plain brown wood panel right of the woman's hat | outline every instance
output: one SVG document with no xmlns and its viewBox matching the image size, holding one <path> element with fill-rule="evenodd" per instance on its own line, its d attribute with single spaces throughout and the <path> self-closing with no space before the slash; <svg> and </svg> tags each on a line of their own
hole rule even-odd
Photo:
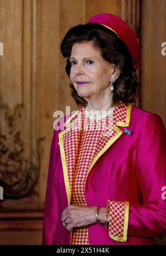
<svg viewBox="0 0 166 256">
<path fill-rule="evenodd" d="M 166 127 L 166 1 L 143 0 L 141 10 L 141 107 L 159 114 Z"/>
</svg>

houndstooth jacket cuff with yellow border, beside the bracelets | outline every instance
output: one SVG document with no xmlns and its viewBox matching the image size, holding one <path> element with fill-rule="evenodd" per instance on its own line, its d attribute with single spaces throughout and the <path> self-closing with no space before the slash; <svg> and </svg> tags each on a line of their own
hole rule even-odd
<svg viewBox="0 0 166 256">
<path fill-rule="evenodd" d="M 108 226 L 110 237 L 117 242 L 127 240 L 129 202 L 107 201 Z"/>
</svg>

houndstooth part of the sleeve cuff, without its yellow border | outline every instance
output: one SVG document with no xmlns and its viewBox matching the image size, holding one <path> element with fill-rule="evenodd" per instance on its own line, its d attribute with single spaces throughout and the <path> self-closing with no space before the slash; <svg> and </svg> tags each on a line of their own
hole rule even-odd
<svg viewBox="0 0 166 256">
<path fill-rule="evenodd" d="M 123 238 L 126 202 L 108 200 L 107 209 L 109 214 L 108 233 L 112 237 Z"/>
</svg>

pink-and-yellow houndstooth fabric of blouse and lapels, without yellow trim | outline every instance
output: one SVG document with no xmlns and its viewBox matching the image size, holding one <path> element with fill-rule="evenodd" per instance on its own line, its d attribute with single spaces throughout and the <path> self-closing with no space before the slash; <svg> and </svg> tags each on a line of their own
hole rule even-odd
<svg viewBox="0 0 166 256">
<path fill-rule="evenodd" d="M 86 207 L 85 183 L 91 162 L 117 132 L 117 121 L 125 122 L 127 104 L 117 106 L 112 117 L 101 121 L 85 118 L 85 107 L 71 119 L 70 131 L 63 135 L 64 151 L 71 191 L 71 204 Z M 78 227 L 72 231 L 71 244 L 88 245 L 89 228 Z"/>
</svg>

